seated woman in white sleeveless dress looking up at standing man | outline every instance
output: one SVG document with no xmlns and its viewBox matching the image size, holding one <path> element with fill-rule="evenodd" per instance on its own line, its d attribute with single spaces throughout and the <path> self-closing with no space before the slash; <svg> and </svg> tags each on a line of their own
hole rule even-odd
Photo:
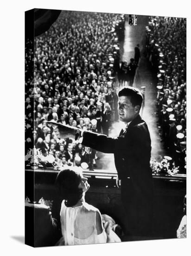
<svg viewBox="0 0 191 256">
<path fill-rule="evenodd" d="M 121 242 L 112 230 L 107 236 L 100 211 L 85 202 L 89 183 L 77 168 L 60 171 L 56 185 L 64 199 L 60 210 L 63 237 L 57 245 Z"/>
</svg>

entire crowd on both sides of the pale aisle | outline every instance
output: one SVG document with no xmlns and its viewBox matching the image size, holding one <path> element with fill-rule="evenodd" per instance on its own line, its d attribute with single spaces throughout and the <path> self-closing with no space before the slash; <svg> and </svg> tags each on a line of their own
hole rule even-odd
<svg viewBox="0 0 191 256">
<path fill-rule="evenodd" d="M 149 19 L 146 56 L 157 76 L 159 133 L 175 166 L 184 172 L 186 20 L 156 16 Z M 26 149 L 34 144 L 44 155 L 51 153 L 59 159 L 64 157 L 63 162 L 74 162 L 76 154 L 81 159 L 88 155 L 86 158 L 90 160 L 85 162 L 89 162 L 89 168 L 96 165 L 96 152 L 75 141 L 60 141 L 45 121 L 108 135 L 111 122 L 118 120 L 115 75 L 119 85 L 125 85 L 127 81 L 132 86 L 140 58 L 137 45 L 134 59 L 129 64 L 122 62 L 120 65 L 119 40 L 124 37 L 124 23 L 125 16 L 120 14 L 63 11 L 51 29 L 36 37 L 34 81 L 32 75 L 27 74 L 27 69 L 33 69 L 32 50 L 26 51 L 25 58 L 28 77 L 25 83 Z M 60 146 L 64 146 L 64 153 Z M 68 148 L 72 152 L 70 158 Z"/>
</svg>

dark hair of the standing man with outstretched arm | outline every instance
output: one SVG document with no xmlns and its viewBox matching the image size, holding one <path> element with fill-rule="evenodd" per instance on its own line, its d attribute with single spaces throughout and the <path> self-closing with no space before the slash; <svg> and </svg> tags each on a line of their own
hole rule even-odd
<svg viewBox="0 0 191 256">
<path fill-rule="evenodd" d="M 141 108 L 143 102 L 143 96 L 139 89 L 127 86 L 126 88 L 122 88 L 118 92 L 118 97 L 127 96 L 130 97 L 131 103 L 133 106 L 139 105 Z"/>
</svg>

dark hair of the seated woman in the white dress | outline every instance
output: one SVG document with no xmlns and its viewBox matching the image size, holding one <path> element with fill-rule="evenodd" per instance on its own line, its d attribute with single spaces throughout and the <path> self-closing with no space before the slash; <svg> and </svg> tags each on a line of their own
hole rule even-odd
<svg viewBox="0 0 191 256">
<path fill-rule="evenodd" d="M 65 169 L 58 173 L 55 183 L 67 207 L 74 206 L 82 198 L 83 190 L 78 188 L 81 181 L 81 175 L 74 170 Z"/>
</svg>

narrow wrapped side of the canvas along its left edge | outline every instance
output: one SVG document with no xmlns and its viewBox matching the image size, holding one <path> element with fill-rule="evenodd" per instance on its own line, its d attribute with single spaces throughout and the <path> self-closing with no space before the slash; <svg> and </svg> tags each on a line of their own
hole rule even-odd
<svg viewBox="0 0 191 256">
<path fill-rule="evenodd" d="M 25 12 L 25 162 L 34 166 L 34 10 Z M 34 208 L 30 200 L 34 197 L 34 173 L 25 172 L 25 244 L 34 246 Z M 29 199 L 30 198 L 30 199 Z"/>
</svg>

